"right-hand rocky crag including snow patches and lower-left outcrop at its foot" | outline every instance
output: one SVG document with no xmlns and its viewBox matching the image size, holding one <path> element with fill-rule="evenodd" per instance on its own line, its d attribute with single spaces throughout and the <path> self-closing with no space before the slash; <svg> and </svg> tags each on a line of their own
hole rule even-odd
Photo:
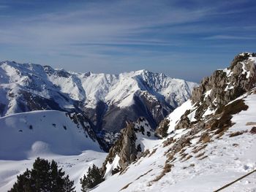
<svg viewBox="0 0 256 192">
<path fill-rule="evenodd" d="M 230 67 L 215 71 L 210 77 L 204 78 L 200 86 L 194 88 L 191 97 L 192 104 L 195 105 L 194 123 L 255 88 L 255 56 L 256 53 L 237 55 Z M 181 116 L 176 129 L 189 127 L 192 122 L 188 115 L 193 111 L 188 110 Z"/>
</svg>

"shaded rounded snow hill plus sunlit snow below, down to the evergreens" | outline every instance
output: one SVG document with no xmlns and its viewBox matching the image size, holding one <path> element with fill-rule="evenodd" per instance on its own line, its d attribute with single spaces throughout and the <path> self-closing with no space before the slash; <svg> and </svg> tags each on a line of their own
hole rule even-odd
<svg viewBox="0 0 256 192">
<path fill-rule="evenodd" d="M 30 169 L 38 156 L 57 161 L 80 191 L 79 178 L 92 164 L 100 166 L 106 155 L 65 112 L 23 112 L 0 118 L 0 191 L 9 190 L 16 175 Z"/>
</svg>

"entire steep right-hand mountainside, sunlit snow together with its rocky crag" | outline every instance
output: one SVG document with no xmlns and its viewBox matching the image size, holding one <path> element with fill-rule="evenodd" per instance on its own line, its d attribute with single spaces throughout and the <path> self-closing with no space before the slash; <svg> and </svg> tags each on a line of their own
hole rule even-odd
<svg viewBox="0 0 256 192">
<path fill-rule="evenodd" d="M 192 99 L 160 123 L 156 134 L 165 139 L 155 140 L 93 191 L 215 191 L 255 170 L 255 64 L 255 53 L 241 53 L 230 67 L 206 77 Z M 110 149 L 117 154 L 111 155 L 114 168 L 125 158 L 118 146 L 129 145 L 116 142 Z M 255 181 L 250 174 L 226 190 L 255 191 Z"/>
</svg>

